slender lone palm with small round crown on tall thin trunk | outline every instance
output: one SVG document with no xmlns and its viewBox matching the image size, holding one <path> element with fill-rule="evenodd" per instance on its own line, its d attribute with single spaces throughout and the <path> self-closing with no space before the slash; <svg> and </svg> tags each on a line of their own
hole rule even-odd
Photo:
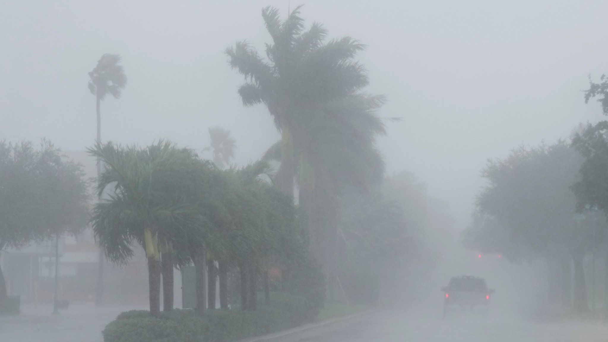
<svg viewBox="0 0 608 342">
<path fill-rule="evenodd" d="M 97 99 L 97 143 L 102 141 L 102 114 L 100 112 L 100 104 L 106 98 L 106 95 L 111 94 L 114 99 L 119 99 L 122 89 L 126 85 L 126 75 L 122 65 L 119 65 L 120 55 L 104 54 L 97 61 L 97 66 L 89 72 L 89 91 L 95 95 Z M 102 164 L 100 159 L 97 159 L 97 177 L 102 173 Z M 97 273 L 97 290 L 95 291 L 95 304 L 102 304 L 103 299 L 103 251 L 99 251 L 98 273 Z"/>
</svg>

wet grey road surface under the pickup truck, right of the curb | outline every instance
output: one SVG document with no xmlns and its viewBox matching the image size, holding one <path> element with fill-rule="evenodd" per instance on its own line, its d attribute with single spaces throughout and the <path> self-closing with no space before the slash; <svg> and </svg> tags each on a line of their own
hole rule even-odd
<svg viewBox="0 0 608 342">
<path fill-rule="evenodd" d="M 295 333 L 284 342 L 605 342 L 608 327 L 589 321 L 531 322 L 517 317 L 376 311 Z"/>
</svg>

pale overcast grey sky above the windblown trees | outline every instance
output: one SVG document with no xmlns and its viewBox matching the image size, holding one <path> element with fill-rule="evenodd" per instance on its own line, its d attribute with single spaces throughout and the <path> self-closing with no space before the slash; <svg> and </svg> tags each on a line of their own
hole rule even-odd
<svg viewBox="0 0 608 342">
<path fill-rule="evenodd" d="M 390 172 L 410 170 L 449 201 L 462 228 L 487 158 L 567 137 L 601 119 L 587 75 L 608 72 L 608 1 L 292 1 L 307 24 L 368 45 L 370 92 L 385 94 L 381 138 Z M 224 49 L 269 41 L 260 10 L 288 1 L 0 0 L 0 139 L 50 138 L 83 150 L 95 134 L 87 72 L 106 52 L 128 76 L 102 103 L 102 138 L 168 138 L 203 148 L 207 128 L 257 159 L 278 134 L 265 108 L 243 108 Z"/>
</svg>

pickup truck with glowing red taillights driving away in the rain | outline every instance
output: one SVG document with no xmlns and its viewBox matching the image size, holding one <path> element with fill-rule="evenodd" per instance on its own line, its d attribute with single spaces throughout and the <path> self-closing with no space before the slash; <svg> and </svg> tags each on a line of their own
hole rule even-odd
<svg viewBox="0 0 608 342">
<path fill-rule="evenodd" d="M 487 308 L 490 297 L 494 293 L 483 278 L 472 276 L 453 277 L 446 287 L 441 288 L 441 291 L 444 296 L 443 316 L 451 305 L 461 309 L 473 309 L 478 306 Z"/>
</svg>

